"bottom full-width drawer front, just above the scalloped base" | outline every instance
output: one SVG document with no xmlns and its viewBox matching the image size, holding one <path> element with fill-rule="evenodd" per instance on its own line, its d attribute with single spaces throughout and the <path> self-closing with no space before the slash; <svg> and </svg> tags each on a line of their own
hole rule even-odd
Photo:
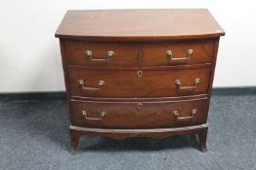
<svg viewBox="0 0 256 170">
<path fill-rule="evenodd" d="M 208 99 L 177 102 L 71 101 L 71 124 L 85 127 L 153 128 L 205 123 Z"/>
</svg>

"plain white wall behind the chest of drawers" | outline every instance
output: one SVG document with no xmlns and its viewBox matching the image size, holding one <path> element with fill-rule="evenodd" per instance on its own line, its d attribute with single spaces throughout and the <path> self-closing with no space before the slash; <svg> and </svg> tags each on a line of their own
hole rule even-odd
<svg viewBox="0 0 256 170">
<path fill-rule="evenodd" d="M 254 1 L 8 0 L 0 1 L 0 92 L 64 90 L 59 41 L 66 10 L 207 8 L 226 31 L 214 86 L 256 85 Z"/>
</svg>

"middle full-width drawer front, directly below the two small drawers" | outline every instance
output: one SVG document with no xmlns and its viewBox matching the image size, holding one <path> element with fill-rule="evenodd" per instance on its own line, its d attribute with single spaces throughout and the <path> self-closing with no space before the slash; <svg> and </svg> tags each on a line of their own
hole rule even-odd
<svg viewBox="0 0 256 170">
<path fill-rule="evenodd" d="M 110 71 L 68 67 L 71 96 L 175 97 L 208 92 L 210 68 Z"/>
</svg>

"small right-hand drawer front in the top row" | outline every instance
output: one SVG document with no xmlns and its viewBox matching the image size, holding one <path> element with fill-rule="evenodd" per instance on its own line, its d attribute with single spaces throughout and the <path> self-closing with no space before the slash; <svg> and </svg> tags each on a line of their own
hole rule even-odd
<svg viewBox="0 0 256 170">
<path fill-rule="evenodd" d="M 143 46 L 143 66 L 211 63 L 214 41 L 147 44 Z"/>
</svg>

